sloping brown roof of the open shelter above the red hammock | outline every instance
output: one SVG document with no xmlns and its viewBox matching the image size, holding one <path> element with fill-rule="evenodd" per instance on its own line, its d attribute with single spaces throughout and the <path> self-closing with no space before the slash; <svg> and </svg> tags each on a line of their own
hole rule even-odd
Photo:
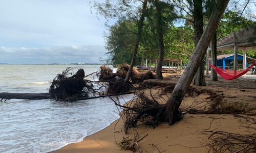
<svg viewBox="0 0 256 153">
<path fill-rule="evenodd" d="M 243 28 L 237 32 L 231 33 L 217 41 L 218 50 L 232 50 L 234 45 L 238 46 L 239 50 L 255 49 L 256 29 Z"/>
</svg>

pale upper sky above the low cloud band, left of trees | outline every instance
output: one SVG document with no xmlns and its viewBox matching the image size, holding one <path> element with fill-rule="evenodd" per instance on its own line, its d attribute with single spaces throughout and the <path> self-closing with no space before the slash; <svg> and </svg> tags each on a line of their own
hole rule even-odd
<svg viewBox="0 0 256 153">
<path fill-rule="evenodd" d="M 0 46 L 103 45 L 104 23 L 89 1 L 1 0 Z"/>
</svg>

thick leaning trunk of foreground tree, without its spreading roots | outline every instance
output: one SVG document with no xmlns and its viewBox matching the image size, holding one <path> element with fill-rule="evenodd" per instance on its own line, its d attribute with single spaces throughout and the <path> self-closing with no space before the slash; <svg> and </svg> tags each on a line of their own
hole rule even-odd
<svg viewBox="0 0 256 153">
<path fill-rule="evenodd" d="M 174 123 L 177 112 L 179 112 L 179 107 L 184 95 L 189 88 L 193 78 L 197 72 L 199 65 L 201 64 L 201 59 L 204 57 L 208 45 L 214 36 L 216 29 L 221 20 L 221 16 L 224 13 L 229 0 L 218 0 L 212 14 L 209 18 L 209 22 L 205 31 L 198 41 L 193 54 L 187 64 L 185 71 L 183 72 L 180 80 L 175 86 L 172 95 L 167 100 L 166 106 L 166 119 L 168 119 L 169 125 Z"/>
</svg>

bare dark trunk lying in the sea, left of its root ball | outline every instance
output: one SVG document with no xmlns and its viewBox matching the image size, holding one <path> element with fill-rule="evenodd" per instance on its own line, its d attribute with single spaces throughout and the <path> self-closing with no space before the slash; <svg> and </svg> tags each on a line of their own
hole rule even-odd
<svg viewBox="0 0 256 153">
<path fill-rule="evenodd" d="M 0 99 L 28 99 L 28 100 L 40 100 L 49 99 L 49 93 L 0 93 Z"/>
</svg>

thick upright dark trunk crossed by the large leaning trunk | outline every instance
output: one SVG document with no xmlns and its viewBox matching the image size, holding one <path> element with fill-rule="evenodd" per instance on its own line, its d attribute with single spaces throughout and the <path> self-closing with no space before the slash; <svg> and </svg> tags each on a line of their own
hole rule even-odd
<svg viewBox="0 0 256 153">
<path fill-rule="evenodd" d="M 204 32 L 204 23 L 203 23 L 203 1 L 194 0 L 194 36 L 195 36 L 195 47 L 200 40 Z M 201 59 L 201 64 L 197 70 L 197 74 L 194 79 L 194 85 L 205 86 L 204 80 L 204 60 Z"/>
</svg>

